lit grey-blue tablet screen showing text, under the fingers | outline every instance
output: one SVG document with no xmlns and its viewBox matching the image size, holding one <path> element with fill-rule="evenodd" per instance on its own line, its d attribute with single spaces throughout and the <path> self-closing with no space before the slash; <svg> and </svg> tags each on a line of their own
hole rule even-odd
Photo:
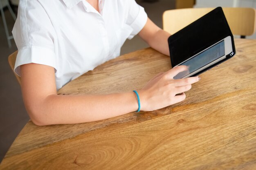
<svg viewBox="0 0 256 170">
<path fill-rule="evenodd" d="M 211 62 L 217 60 L 218 58 L 225 55 L 225 43 L 224 40 L 218 42 L 217 44 L 211 46 L 210 48 L 206 49 L 202 53 L 199 53 L 190 59 L 186 60 L 185 62 L 179 65 L 188 66 L 188 71 L 183 71 L 178 73 L 174 79 L 180 79 L 197 71 L 198 69 L 210 64 Z"/>
</svg>

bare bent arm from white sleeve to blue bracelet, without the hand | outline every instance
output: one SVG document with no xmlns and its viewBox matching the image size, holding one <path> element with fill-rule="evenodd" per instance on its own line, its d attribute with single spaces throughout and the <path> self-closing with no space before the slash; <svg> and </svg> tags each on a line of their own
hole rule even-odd
<svg viewBox="0 0 256 170">
<path fill-rule="evenodd" d="M 21 87 L 27 112 L 37 125 L 75 124 L 107 119 L 138 108 L 134 92 L 111 95 L 57 95 L 54 68 L 21 66 Z"/>
</svg>

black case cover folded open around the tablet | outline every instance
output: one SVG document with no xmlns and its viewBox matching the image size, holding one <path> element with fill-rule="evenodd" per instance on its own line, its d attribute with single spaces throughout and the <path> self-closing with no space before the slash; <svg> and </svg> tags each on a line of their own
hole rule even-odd
<svg viewBox="0 0 256 170">
<path fill-rule="evenodd" d="M 229 24 L 227 23 L 222 8 L 217 7 L 168 38 L 172 67 L 189 59 L 193 55 L 200 53 L 227 36 L 231 36 L 233 53 L 227 55 L 225 60 L 221 60 L 199 73 L 191 75 L 191 77 L 199 75 L 204 71 L 225 62 L 236 54 L 234 37 L 229 28 Z"/>
</svg>

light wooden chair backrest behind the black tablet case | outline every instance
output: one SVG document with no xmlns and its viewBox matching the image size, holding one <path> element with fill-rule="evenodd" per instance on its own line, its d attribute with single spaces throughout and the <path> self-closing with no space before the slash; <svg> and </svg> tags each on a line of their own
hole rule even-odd
<svg viewBox="0 0 256 170">
<path fill-rule="evenodd" d="M 165 11 L 163 14 L 164 30 L 174 34 L 214 8 L 187 8 Z M 256 29 L 256 10 L 254 8 L 222 8 L 229 27 L 234 35 L 252 35 Z"/>
</svg>

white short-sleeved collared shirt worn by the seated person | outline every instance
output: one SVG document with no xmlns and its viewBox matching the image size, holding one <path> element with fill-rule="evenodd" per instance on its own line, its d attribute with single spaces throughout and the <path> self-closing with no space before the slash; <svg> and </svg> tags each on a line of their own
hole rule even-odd
<svg viewBox="0 0 256 170">
<path fill-rule="evenodd" d="M 52 66 L 58 90 L 119 56 L 147 15 L 135 0 L 99 0 L 99 9 L 86 0 L 20 0 L 12 31 L 18 47 L 15 73 L 20 75 L 22 64 Z"/>
</svg>

